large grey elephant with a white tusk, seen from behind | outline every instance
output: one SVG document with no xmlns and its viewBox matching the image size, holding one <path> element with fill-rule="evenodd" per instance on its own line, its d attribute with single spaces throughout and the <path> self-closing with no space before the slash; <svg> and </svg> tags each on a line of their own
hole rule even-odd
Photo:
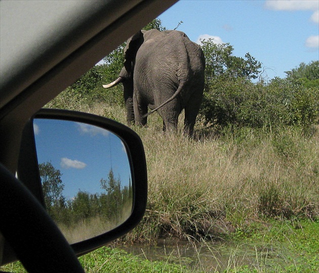
<svg viewBox="0 0 319 273">
<path fill-rule="evenodd" d="M 204 92 L 201 47 L 182 31 L 140 30 L 127 41 L 124 55 L 119 77 L 103 87 L 123 83 L 128 124 L 145 126 L 157 111 L 163 131 L 173 131 L 184 109 L 184 132 L 192 135 Z"/>
</svg>

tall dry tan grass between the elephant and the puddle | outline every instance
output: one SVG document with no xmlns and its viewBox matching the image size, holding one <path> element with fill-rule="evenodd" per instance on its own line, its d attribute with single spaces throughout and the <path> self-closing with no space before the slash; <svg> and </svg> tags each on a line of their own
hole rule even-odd
<svg viewBox="0 0 319 273">
<path fill-rule="evenodd" d="M 81 111 L 126 123 L 121 107 Z M 216 134 L 199 124 L 191 140 L 181 130 L 162 133 L 162 119 L 153 114 L 147 128 L 133 129 L 147 158 L 148 206 L 125 240 L 222 236 L 266 218 L 318 216 L 318 126 L 308 134 L 295 127 Z"/>
</svg>

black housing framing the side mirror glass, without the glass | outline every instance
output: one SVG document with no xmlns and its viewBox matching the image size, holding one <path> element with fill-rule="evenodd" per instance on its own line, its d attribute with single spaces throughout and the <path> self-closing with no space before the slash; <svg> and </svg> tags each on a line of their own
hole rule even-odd
<svg viewBox="0 0 319 273">
<path fill-rule="evenodd" d="M 44 194 L 39 179 L 38 161 L 35 149 L 33 119 L 73 121 L 97 126 L 115 134 L 125 145 L 132 179 L 132 210 L 130 216 L 115 228 L 71 245 L 77 256 L 97 249 L 132 230 L 142 219 L 147 201 L 147 170 L 144 148 L 139 136 L 129 127 L 104 117 L 57 109 L 42 109 L 24 128 L 18 164 L 19 180 L 44 206 Z"/>
</svg>

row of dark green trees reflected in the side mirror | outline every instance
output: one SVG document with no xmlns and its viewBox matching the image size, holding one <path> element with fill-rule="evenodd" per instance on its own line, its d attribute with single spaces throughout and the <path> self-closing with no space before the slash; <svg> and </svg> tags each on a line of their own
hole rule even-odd
<svg viewBox="0 0 319 273">
<path fill-rule="evenodd" d="M 83 223 L 86 219 L 100 217 L 117 223 L 123 212 L 131 209 L 132 185 L 121 186 L 121 179 L 114 178 L 110 169 L 106 180 L 101 179 L 101 193 L 89 193 L 78 190 L 71 199 L 63 195 L 64 184 L 61 172 L 51 162 L 39 164 L 46 208 L 52 219 L 66 227 Z"/>
</svg>

